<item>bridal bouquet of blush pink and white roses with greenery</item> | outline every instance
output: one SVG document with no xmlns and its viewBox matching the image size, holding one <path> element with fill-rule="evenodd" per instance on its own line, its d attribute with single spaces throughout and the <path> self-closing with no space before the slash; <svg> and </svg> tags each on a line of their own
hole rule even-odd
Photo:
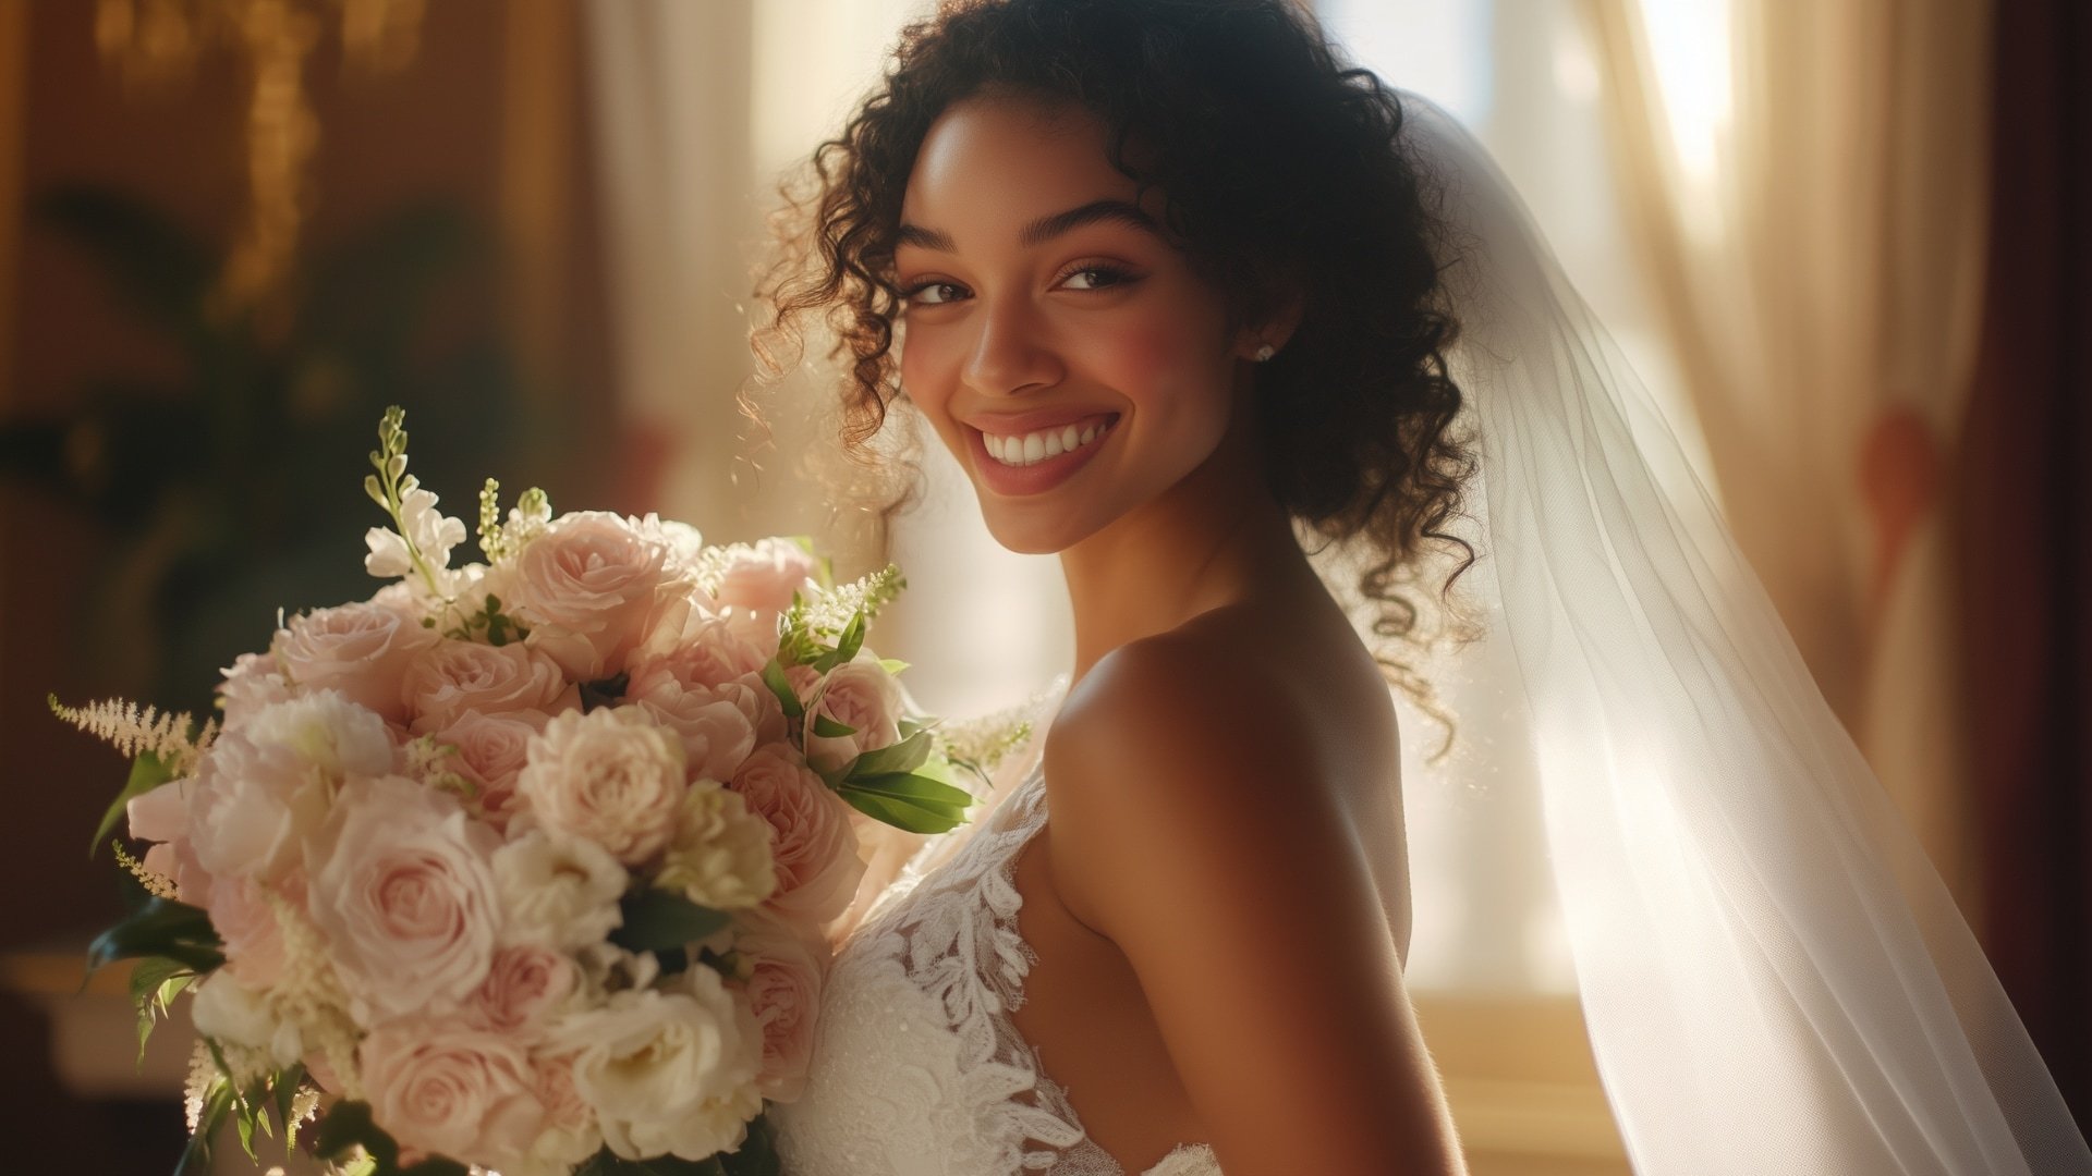
<svg viewBox="0 0 2092 1176">
<path fill-rule="evenodd" d="M 222 720 L 132 703 L 61 718 L 134 757 L 96 841 L 151 900 L 92 965 L 136 958 L 140 1044 L 182 992 L 195 1136 L 289 1136 L 360 1176 L 776 1172 L 854 900 L 856 824 L 952 829 L 979 751 L 908 711 L 864 651 L 891 565 L 833 586 L 793 540 L 554 517 L 542 492 L 485 563 L 379 429 L 368 601 L 247 653 Z M 322 1109 L 324 1105 L 324 1109 Z M 201 1168 L 199 1168 L 201 1170 Z"/>
</svg>

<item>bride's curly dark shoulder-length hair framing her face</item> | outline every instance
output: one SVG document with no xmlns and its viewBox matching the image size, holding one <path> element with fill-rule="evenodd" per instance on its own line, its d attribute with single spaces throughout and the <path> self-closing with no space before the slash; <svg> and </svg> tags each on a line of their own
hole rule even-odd
<svg viewBox="0 0 2092 1176">
<path fill-rule="evenodd" d="M 1345 550 L 1362 540 L 1370 559 L 1358 592 L 1377 611 L 1372 630 L 1427 644 L 1433 634 L 1404 592 L 1427 540 L 1464 552 L 1441 586 L 1446 605 L 1475 563 L 1448 532 L 1475 462 L 1454 431 L 1462 398 L 1446 368 L 1458 324 L 1433 262 L 1439 188 L 1400 149 L 1397 96 L 1287 0 L 956 0 L 904 29 L 883 88 L 787 184 L 784 253 L 757 289 L 774 306 L 753 337 L 764 375 L 797 364 L 818 316 L 847 362 L 845 450 L 881 431 L 904 398 L 893 358 L 902 195 L 937 115 L 981 90 L 1094 115 L 1111 163 L 1159 188 L 1167 228 L 1222 293 L 1230 326 L 1264 320 L 1278 291 L 1297 291 L 1289 345 L 1255 368 L 1272 492 L 1303 540 Z M 879 513 L 881 548 L 918 485 L 910 469 Z M 1441 714 L 1408 661 L 1374 657 Z"/>
</svg>

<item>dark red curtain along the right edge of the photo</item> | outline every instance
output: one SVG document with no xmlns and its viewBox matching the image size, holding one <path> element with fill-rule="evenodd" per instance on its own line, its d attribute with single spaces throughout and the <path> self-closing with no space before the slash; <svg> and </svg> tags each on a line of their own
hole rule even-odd
<svg viewBox="0 0 2092 1176">
<path fill-rule="evenodd" d="M 1983 347 L 1956 465 L 1983 942 L 2092 1122 L 2092 6 L 1998 0 Z"/>
</svg>

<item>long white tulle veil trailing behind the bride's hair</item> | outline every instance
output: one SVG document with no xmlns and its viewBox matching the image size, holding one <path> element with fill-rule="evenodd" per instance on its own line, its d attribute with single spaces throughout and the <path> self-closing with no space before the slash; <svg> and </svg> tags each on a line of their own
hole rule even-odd
<svg viewBox="0 0 2092 1176">
<path fill-rule="evenodd" d="M 1410 92 L 1584 1015 L 1634 1170 L 2088 1174 L 1996 973 L 1510 184 Z M 1795 525 L 1810 525 L 1797 519 Z M 1458 655 L 1454 655 L 1458 661 Z"/>
</svg>

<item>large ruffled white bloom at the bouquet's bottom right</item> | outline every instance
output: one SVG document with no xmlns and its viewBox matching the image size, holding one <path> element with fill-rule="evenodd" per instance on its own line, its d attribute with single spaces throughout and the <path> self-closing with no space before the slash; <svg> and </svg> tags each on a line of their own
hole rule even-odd
<svg viewBox="0 0 2092 1176">
<path fill-rule="evenodd" d="M 615 992 L 561 1036 L 577 1046 L 573 1088 L 626 1159 L 718 1155 L 741 1147 L 764 1109 L 761 1032 L 709 967 L 688 969 L 674 992 Z"/>
</svg>

